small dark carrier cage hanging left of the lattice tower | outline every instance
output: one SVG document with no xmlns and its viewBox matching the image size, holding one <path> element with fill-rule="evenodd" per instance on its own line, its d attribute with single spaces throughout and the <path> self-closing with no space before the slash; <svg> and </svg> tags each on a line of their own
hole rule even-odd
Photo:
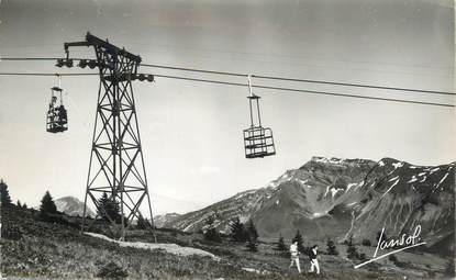
<svg viewBox="0 0 456 280">
<path fill-rule="evenodd" d="M 51 133 L 68 130 L 68 115 L 62 98 L 60 77 L 58 78 L 58 87 L 51 88 L 51 102 L 46 117 L 46 131 Z M 57 96 L 59 96 L 59 102 L 57 102 Z"/>
</svg>

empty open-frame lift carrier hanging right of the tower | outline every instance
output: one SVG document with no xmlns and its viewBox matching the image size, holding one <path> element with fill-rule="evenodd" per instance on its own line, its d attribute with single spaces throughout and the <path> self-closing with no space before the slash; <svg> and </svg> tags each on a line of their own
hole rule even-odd
<svg viewBox="0 0 456 280">
<path fill-rule="evenodd" d="M 263 158 L 267 156 L 276 155 L 276 147 L 274 145 L 273 130 L 269 127 L 262 126 L 262 116 L 259 111 L 259 99 L 260 97 L 255 96 L 252 91 L 251 76 L 248 79 L 249 96 L 248 104 L 251 110 L 251 127 L 244 130 L 244 148 L 246 158 Z M 254 105 L 256 102 L 256 115 L 257 124 L 254 121 Z"/>
</svg>

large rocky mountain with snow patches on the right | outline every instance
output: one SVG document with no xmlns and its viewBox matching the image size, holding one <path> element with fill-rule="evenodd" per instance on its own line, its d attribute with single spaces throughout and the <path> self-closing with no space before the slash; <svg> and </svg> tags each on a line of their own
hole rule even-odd
<svg viewBox="0 0 456 280">
<path fill-rule="evenodd" d="M 312 157 L 265 188 L 236 193 L 163 225 L 204 231 L 205 219 L 213 215 L 216 228 L 226 232 L 231 219 L 240 216 L 253 219 L 264 237 L 291 238 L 300 229 L 309 238 L 375 243 L 383 223 L 391 236 L 420 223 L 423 237 L 436 244 L 454 234 L 455 165 Z"/>
</svg>

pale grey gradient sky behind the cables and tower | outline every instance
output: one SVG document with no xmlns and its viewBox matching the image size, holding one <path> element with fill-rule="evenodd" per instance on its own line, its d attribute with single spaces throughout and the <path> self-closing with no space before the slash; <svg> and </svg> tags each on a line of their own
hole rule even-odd
<svg viewBox="0 0 456 280">
<path fill-rule="evenodd" d="M 445 0 L 0 2 L 1 57 L 64 56 L 89 31 L 144 63 L 253 75 L 454 91 L 454 3 Z M 73 51 L 71 51 L 73 52 Z M 75 57 L 93 57 L 88 48 Z M 87 72 L 54 61 L 0 61 L 0 71 Z M 140 71 L 246 82 L 246 78 Z M 0 76 L 0 177 L 38 205 L 84 200 L 99 80 L 64 77 L 69 130 L 45 132 L 54 77 Z M 254 85 L 432 102 L 454 97 L 253 80 Z M 257 89 L 277 155 L 244 157 L 247 88 L 156 78 L 134 94 L 155 214 L 183 213 L 262 188 L 312 156 L 455 160 L 449 108 Z"/>
</svg>

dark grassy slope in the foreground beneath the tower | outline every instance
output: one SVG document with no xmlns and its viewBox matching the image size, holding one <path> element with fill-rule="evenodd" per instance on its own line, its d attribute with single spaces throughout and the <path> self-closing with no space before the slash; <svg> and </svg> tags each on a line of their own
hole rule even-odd
<svg viewBox="0 0 456 280">
<path fill-rule="evenodd" d="M 2 209 L 2 234 L 19 227 L 22 238 L 1 239 L 3 277 L 43 277 L 90 279 L 99 268 L 114 261 L 129 272 L 130 279 L 314 279 L 315 276 L 298 276 L 296 269 L 288 270 L 289 259 L 273 249 L 273 244 L 263 243 L 259 253 L 252 254 L 243 245 L 224 240 L 223 244 L 208 244 L 199 234 L 183 234 L 175 231 L 159 231 L 159 242 L 174 242 L 185 246 L 205 249 L 222 258 L 220 262 L 209 257 L 179 257 L 158 250 L 144 250 L 119 247 L 90 236 L 81 236 L 75 227 L 40 221 L 35 211 L 18 210 L 12 206 Z M 142 231 L 134 231 L 131 240 L 151 242 L 152 237 Z M 321 245 L 324 249 L 324 246 Z M 345 251 L 341 246 L 340 251 Z M 398 255 L 398 258 L 399 255 Z M 321 255 L 324 279 L 398 279 L 408 275 L 388 260 L 380 265 L 366 266 L 353 270 L 353 264 L 342 257 Z M 253 268 L 268 271 L 258 275 L 244 271 Z M 308 259 L 303 258 L 301 268 L 308 269 Z M 370 269 L 370 270 L 369 270 Z M 433 270 L 433 269 L 431 269 Z M 421 271 L 424 279 L 429 273 Z M 413 277 L 414 276 L 414 277 Z M 409 278 L 410 279 L 410 278 Z"/>
</svg>

